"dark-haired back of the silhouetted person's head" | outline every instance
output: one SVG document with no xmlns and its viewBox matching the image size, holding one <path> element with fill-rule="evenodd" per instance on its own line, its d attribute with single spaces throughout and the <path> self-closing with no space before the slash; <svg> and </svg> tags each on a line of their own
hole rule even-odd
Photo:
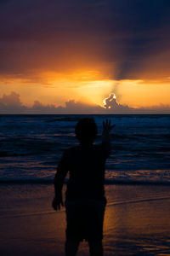
<svg viewBox="0 0 170 256">
<path fill-rule="evenodd" d="M 94 143 L 98 129 L 94 119 L 84 118 L 78 121 L 75 132 L 80 143 Z"/>
</svg>

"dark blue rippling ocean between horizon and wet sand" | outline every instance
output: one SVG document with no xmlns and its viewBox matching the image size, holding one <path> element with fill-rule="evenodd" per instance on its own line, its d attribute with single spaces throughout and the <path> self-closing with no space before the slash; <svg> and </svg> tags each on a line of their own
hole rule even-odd
<svg viewBox="0 0 170 256">
<path fill-rule="evenodd" d="M 63 151 L 78 143 L 74 129 L 83 116 L 0 115 L 0 182 L 53 183 Z M 170 115 L 92 116 L 95 143 L 103 120 L 116 124 L 106 183 L 170 183 Z"/>
</svg>

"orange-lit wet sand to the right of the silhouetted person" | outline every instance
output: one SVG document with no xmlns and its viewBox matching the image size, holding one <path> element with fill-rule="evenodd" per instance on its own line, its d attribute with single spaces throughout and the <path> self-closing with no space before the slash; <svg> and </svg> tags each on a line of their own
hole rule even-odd
<svg viewBox="0 0 170 256">
<path fill-rule="evenodd" d="M 170 190 L 107 186 L 105 255 L 169 255 Z"/>
</svg>

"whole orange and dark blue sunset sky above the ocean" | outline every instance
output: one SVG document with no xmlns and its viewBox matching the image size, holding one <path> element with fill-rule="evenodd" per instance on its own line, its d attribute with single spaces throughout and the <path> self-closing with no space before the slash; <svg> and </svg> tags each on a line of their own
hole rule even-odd
<svg viewBox="0 0 170 256">
<path fill-rule="evenodd" d="M 169 0 L 0 0 L 0 113 L 170 113 L 169 13 Z"/>
</svg>

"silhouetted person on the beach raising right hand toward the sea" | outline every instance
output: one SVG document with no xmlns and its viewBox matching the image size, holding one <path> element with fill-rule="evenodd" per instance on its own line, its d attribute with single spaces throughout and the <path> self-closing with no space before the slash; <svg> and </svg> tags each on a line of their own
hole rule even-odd
<svg viewBox="0 0 170 256">
<path fill-rule="evenodd" d="M 65 194 L 65 255 L 74 256 L 80 241 L 88 241 L 90 255 L 103 255 L 103 221 L 105 213 L 105 160 L 111 152 L 110 132 L 114 125 L 103 122 L 102 143 L 94 145 L 97 125 L 94 119 L 80 119 L 76 136 L 80 144 L 65 150 L 54 177 L 54 210 L 64 206 L 62 187 L 70 172 Z"/>
</svg>

